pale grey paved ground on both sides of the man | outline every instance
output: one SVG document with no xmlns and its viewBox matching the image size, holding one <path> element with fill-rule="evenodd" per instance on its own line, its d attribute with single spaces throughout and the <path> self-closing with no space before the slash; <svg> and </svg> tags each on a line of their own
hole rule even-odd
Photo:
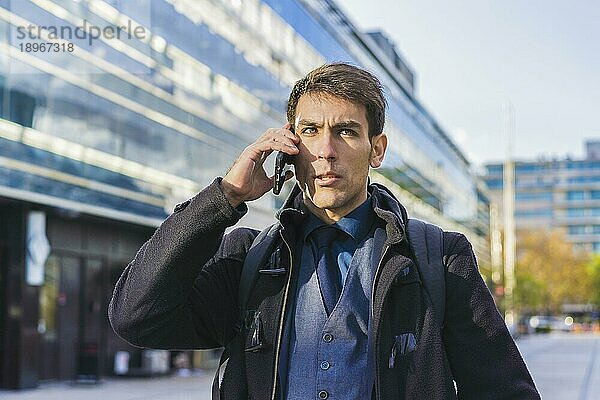
<svg viewBox="0 0 600 400">
<path fill-rule="evenodd" d="M 517 344 L 544 400 L 600 398 L 600 336 L 538 334 Z M 212 372 L 190 377 L 106 379 L 98 385 L 56 383 L 22 392 L 0 391 L 10 400 L 209 400 Z"/>
</svg>

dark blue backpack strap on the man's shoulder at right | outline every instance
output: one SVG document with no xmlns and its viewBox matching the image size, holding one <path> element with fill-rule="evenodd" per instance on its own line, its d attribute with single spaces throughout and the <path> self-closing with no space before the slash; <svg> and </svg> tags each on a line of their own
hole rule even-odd
<svg viewBox="0 0 600 400">
<path fill-rule="evenodd" d="M 446 310 L 446 269 L 443 261 L 444 231 L 437 225 L 409 218 L 406 224 L 412 249 L 425 290 L 433 303 L 440 328 Z"/>
</svg>

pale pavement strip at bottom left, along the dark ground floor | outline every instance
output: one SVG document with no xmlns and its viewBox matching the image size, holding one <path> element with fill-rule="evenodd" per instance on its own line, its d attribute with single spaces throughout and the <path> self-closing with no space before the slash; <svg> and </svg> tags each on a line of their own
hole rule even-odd
<svg viewBox="0 0 600 400">
<path fill-rule="evenodd" d="M 0 390 L 2 400 L 210 400 L 213 371 L 191 376 L 105 378 L 99 384 L 57 382 L 36 389 Z"/>
</svg>

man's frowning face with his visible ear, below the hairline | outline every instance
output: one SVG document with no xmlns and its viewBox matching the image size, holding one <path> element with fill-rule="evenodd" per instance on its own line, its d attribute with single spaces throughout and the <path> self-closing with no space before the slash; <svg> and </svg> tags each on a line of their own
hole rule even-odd
<svg viewBox="0 0 600 400">
<path fill-rule="evenodd" d="M 322 219 L 337 221 L 366 200 L 369 165 L 381 164 L 387 138 L 369 141 L 365 107 L 327 94 L 301 96 L 294 125 L 304 203 Z"/>
</svg>

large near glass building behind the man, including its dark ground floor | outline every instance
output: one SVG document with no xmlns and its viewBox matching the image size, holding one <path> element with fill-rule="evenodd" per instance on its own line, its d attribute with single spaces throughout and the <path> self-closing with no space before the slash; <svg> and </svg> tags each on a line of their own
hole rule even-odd
<svg viewBox="0 0 600 400">
<path fill-rule="evenodd" d="M 124 266 L 283 125 L 295 80 L 327 61 L 385 85 L 390 144 L 371 178 L 489 258 L 485 190 L 411 67 L 331 0 L 0 0 L 0 26 L 0 387 L 110 374 L 134 354 L 106 321 Z M 268 225 L 281 202 L 264 196 L 241 223 Z"/>
</svg>

